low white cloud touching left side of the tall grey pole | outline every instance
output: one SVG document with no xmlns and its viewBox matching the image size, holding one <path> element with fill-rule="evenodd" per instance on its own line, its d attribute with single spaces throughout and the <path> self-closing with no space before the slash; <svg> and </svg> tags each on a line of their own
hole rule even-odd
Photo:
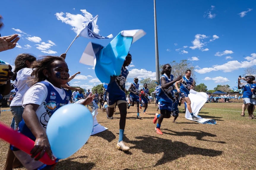
<svg viewBox="0 0 256 170">
<path fill-rule="evenodd" d="M 156 80 L 156 72 L 147 71 L 146 69 L 132 69 L 129 70 L 129 74 L 127 78 L 142 78 L 150 77 L 152 80 Z"/>
</svg>

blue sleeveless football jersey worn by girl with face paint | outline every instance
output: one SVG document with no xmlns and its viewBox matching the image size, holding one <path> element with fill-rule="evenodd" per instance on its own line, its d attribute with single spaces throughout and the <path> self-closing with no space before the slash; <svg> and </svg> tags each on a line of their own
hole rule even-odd
<svg viewBox="0 0 256 170">
<path fill-rule="evenodd" d="M 45 82 L 45 81 L 42 81 L 42 82 L 39 82 L 39 83 L 44 84 L 48 89 L 47 97 L 46 97 L 45 101 L 42 103 L 45 107 L 46 112 L 42 113 L 41 118 L 39 120 L 42 127 L 44 127 L 45 130 L 46 130 L 48 120 L 46 120 L 45 117 L 50 118 L 58 108 L 60 108 L 61 106 L 64 106 L 65 104 L 68 104 L 69 94 L 66 90 L 64 90 L 65 93 L 66 93 L 66 97 L 64 98 L 64 100 L 62 100 L 59 93 L 55 90 L 55 88 L 53 88 L 52 85 L 50 85 L 50 83 Z M 30 131 L 30 129 L 26 126 L 23 119 L 19 124 L 19 128 L 20 128 L 21 133 L 28 136 L 32 140 L 36 140 L 36 138 L 34 137 L 32 132 Z"/>
</svg>

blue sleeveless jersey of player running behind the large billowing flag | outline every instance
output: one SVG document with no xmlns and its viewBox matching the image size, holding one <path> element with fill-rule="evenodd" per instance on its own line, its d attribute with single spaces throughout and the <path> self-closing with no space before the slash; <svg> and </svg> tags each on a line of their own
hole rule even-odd
<svg viewBox="0 0 256 170">
<path fill-rule="evenodd" d="M 108 84 L 107 92 L 115 95 L 125 95 L 125 81 L 129 71 L 122 66 L 121 74 Z"/>
</svg>

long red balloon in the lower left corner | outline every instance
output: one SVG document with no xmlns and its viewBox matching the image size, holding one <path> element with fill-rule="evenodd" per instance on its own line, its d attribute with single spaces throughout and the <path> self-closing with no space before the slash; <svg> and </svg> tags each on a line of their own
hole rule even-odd
<svg viewBox="0 0 256 170">
<path fill-rule="evenodd" d="M 11 145 L 14 145 L 16 148 L 23 150 L 29 155 L 31 155 L 30 151 L 34 148 L 35 142 L 32 139 L 23 135 L 22 133 L 19 133 L 11 129 L 10 127 L 7 127 L 1 122 L 0 122 L 0 138 L 10 143 Z M 47 153 L 45 153 L 44 156 L 41 159 L 39 159 L 39 161 L 41 161 L 42 163 L 45 163 L 46 165 L 53 165 L 55 163 L 55 161 L 52 161 Z"/>
</svg>

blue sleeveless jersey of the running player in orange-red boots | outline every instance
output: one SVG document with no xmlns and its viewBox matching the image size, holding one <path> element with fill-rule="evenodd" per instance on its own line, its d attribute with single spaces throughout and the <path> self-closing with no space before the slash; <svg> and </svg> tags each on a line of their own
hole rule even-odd
<svg viewBox="0 0 256 170">
<path fill-rule="evenodd" d="M 159 101 L 165 101 L 165 102 L 168 102 L 168 103 L 172 103 L 175 99 L 173 97 L 173 88 L 174 86 L 171 85 L 169 86 L 167 89 L 163 89 L 162 88 L 162 84 L 161 84 L 161 78 L 164 77 L 165 78 L 165 82 L 168 83 L 168 82 L 171 82 L 173 81 L 173 75 L 170 75 L 170 80 L 168 77 L 166 77 L 165 75 L 162 75 L 160 77 L 160 85 L 161 85 L 161 88 L 159 90 L 159 95 L 157 97 L 157 102 Z"/>
</svg>

